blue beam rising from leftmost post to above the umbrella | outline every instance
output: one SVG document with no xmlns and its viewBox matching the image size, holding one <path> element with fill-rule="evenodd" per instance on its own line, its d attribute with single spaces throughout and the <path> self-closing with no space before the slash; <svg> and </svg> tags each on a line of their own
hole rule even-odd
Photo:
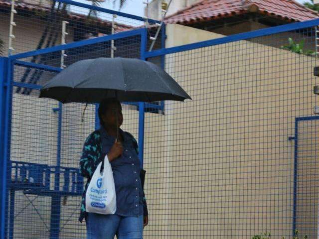
<svg viewBox="0 0 319 239">
<path fill-rule="evenodd" d="M 105 41 L 141 35 L 142 32 L 144 32 L 144 28 L 136 29 L 136 30 L 132 30 L 132 31 L 124 31 L 124 32 L 113 34 L 113 35 L 95 37 L 95 38 L 91 38 L 91 39 L 87 39 L 87 40 L 75 41 L 75 42 L 65 44 L 65 45 L 58 45 L 58 46 L 48 47 L 48 48 L 44 48 L 44 49 L 40 49 L 40 50 L 34 50 L 34 51 L 25 52 L 25 53 L 15 54 L 15 55 L 10 56 L 9 59 L 16 60 L 16 59 L 26 58 L 26 57 L 30 57 L 30 56 L 47 54 L 47 53 L 51 53 L 51 52 L 55 52 L 55 51 L 61 51 L 61 50 L 67 50 L 67 49 L 81 47 L 81 46 L 92 45 L 92 44 L 101 43 L 101 42 L 105 42 Z"/>
</svg>

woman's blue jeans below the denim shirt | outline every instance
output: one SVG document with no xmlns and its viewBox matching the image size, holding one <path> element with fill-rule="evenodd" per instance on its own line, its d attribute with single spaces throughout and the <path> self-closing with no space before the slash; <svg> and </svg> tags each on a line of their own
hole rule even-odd
<svg viewBox="0 0 319 239">
<path fill-rule="evenodd" d="M 143 215 L 122 217 L 115 214 L 88 213 L 87 239 L 143 239 Z"/>
</svg>

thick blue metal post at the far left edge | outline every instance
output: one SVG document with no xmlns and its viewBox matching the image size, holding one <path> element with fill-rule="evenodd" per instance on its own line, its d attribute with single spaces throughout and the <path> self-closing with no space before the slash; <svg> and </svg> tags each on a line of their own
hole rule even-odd
<svg viewBox="0 0 319 239">
<path fill-rule="evenodd" d="M 4 121 L 5 121 L 5 99 L 6 92 L 4 89 L 5 81 L 7 80 L 7 68 L 8 68 L 8 58 L 0 57 L 0 239 L 4 239 L 4 228 L 5 228 L 5 195 L 6 195 L 6 177 L 4 160 Z"/>
</svg>

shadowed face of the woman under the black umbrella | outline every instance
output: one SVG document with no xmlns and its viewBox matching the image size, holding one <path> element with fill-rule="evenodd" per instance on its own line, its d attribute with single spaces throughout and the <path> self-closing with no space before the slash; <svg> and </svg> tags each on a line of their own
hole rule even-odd
<svg viewBox="0 0 319 239">
<path fill-rule="evenodd" d="M 118 123 L 116 123 L 116 114 L 118 115 Z M 120 127 L 123 123 L 122 106 L 120 102 L 109 103 L 102 119 L 107 126 Z"/>
</svg>

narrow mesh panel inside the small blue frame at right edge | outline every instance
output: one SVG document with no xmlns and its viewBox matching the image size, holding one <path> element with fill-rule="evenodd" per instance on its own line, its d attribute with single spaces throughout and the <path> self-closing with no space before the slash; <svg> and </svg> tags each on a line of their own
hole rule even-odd
<svg viewBox="0 0 319 239">
<path fill-rule="evenodd" d="M 298 120 L 296 147 L 296 227 L 317 238 L 318 230 L 318 118 Z"/>
</svg>

